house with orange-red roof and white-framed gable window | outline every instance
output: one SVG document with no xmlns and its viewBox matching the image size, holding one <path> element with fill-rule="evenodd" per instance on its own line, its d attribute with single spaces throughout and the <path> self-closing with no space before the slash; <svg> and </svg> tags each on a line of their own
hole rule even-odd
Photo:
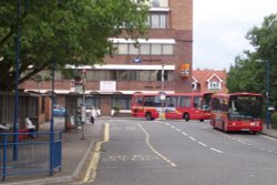
<svg viewBox="0 0 277 185">
<path fill-rule="evenodd" d="M 226 71 L 194 70 L 192 89 L 195 92 L 227 93 Z"/>
</svg>

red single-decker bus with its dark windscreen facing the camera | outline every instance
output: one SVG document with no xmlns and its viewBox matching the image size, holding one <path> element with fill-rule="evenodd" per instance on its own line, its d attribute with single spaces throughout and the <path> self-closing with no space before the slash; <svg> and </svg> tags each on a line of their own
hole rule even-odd
<svg viewBox="0 0 277 185">
<path fill-rule="evenodd" d="M 211 124 L 228 131 L 260 132 L 263 130 L 263 95 L 255 93 L 214 94 Z"/>
</svg>

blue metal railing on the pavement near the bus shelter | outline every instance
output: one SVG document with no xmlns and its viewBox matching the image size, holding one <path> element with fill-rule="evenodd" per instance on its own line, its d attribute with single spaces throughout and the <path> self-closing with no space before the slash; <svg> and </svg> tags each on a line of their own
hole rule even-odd
<svg viewBox="0 0 277 185">
<path fill-rule="evenodd" d="M 2 181 L 8 176 L 19 176 L 61 171 L 62 133 L 35 132 L 33 140 L 28 133 L 0 133 L 0 175 Z M 53 136 L 53 140 L 51 138 Z M 13 142 L 14 136 L 19 140 Z M 52 141 L 52 142 L 51 142 Z M 14 147 L 17 146 L 17 147 Z M 18 151 L 14 160 L 14 148 Z M 51 157 L 50 154 L 53 156 Z"/>
</svg>

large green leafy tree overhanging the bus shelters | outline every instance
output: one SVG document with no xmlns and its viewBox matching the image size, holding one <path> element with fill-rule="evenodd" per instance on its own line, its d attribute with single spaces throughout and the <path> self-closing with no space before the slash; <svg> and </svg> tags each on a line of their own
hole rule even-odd
<svg viewBox="0 0 277 185">
<path fill-rule="evenodd" d="M 17 0 L 0 2 L 0 91 L 14 89 L 17 30 L 20 30 L 19 83 L 66 64 L 93 65 L 114 49 L 109 38 L 138 38 L 147 31 L 147 10 L 131 0 Z"/>
</svg>

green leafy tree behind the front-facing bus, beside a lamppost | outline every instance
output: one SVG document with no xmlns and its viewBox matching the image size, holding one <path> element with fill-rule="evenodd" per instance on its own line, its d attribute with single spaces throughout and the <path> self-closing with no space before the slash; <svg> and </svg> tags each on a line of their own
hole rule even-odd
<svg viewBox="0 0 277 185">
<path fill-rule="evenodd" d="M 264 19 L 260 27 L 254 27 L 246 35 L 254 51 L 245 51 L 244 56 L 237 56 L 235 65 L 230 66 L 227 76 L 227 88 L 230 92 L 266 93 L 266 63 L 269 62 L 271 105 L 277 104 L 277 14 Z M 258 63 L 257 61 L 264 61 Z"/>
</svg>

